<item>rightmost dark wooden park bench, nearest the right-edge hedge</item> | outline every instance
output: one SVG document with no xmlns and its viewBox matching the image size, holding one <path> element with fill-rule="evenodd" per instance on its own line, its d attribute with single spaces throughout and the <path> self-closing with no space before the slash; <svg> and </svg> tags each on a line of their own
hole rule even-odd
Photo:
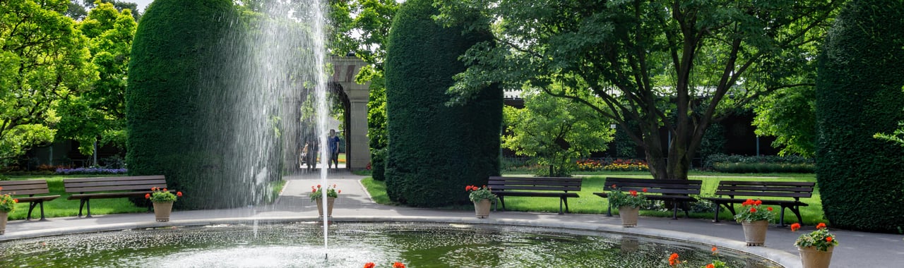
<svg viewBox="0 0 904 268">
<path fill-rule="evenodd" d="M 807 181 L 740 181 L 721 180 L 716 189 L 716 195 L 728 196 L 728 198 L 703 198 L 716 203 L 716 215 L 713 221 L 719 222 L 718 205 L 729 208 L 731 215 L 735 215 L 734 204 L 740 204 L 747 199 L 759 199 L 763 205 L 780 206 L 779 225 L 785 226 L 785 208 L 794 212 L 797 222 L 802 223 L 800 207 L 809 206 L 800 199 L 810 198 L 813 195 L 815 182 Z M 767 199 L 761 199 L 767 198 Z M 772 198 L 772 199 L 769 199 Z M 780 198 L 780 199 L 779 199 Z"/>
</svg>

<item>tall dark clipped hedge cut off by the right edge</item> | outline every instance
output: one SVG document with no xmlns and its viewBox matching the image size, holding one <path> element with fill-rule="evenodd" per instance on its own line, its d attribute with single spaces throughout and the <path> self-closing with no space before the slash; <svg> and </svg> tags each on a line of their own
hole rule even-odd
<svg viewBox="0 0 904 268">
<path fill-rule="evenodd" d="M 904 232 L 904 152 L 874 139 L 904 119 L 904 5 L 851 1 L 816 80 L 816 180 L 832 226 Z"/>
</svg>

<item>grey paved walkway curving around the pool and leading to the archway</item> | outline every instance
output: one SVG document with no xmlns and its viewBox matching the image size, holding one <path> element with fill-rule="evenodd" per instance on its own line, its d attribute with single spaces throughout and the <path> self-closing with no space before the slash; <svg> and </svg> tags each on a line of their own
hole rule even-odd
<svg viewBox="0 0 904 268">
<path fill-rule="evenodd" d="M 342 189 L 336 199 L 334 220 L 398 220 L 442 221 L 461 223 L 513 224 L 551 227 L 572 227 L 642 236 L 664 236 L 692 240 L 721 248 L 744 250 L 758 254 L 786 267 L 800 267 L 794 246 L 797 236 L 812 231 L 813 226 L 792 233 L 786 227 L 770 226 L 766 245 L 746 246 L 739 224 L 708 219 L 641 217 L 634 228 L 624 228 L 618 217 L 605 215 L 527 212 L 492 212 L 490 218 L 474 217 L 473 211 L 440 210 L 383 206 L 374 203 L 359 180 L 363 177 L 347 171 L 329 171 L 329 184 Z M 272 205 L 258 208 L 174 211 L 169 223 L 157 223 L 154 216 L 137 214 L 103 215 L 91 218 L 56 217 L 47 221 L 10 221 L 0 241 L 30 236 L 50 236 L 85 231 L 136 228 L 146 226 L 205 225 L 258 220 L 306 221 L 317 218 L 315 204 L 307 197 L 311 186 L 320 184 L 319 172 L 306 172 L 287 177 L 288 183 L 279 199 Z M 807 228 L 809 227 L 809 228 Z M 832 267 L 902 267 L 904 266 L 904 236 L 832 230 L 841 242 L 833 253 Z"/>
</svg>

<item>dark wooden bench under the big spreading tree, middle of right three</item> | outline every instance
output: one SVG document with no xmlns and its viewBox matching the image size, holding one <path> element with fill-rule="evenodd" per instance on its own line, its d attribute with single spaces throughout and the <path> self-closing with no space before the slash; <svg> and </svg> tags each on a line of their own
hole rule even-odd
<svg viewBox="0 0 904 268">
<path fill-rule="evenodd" d="M 644 194 L 646 199 L 672 201 L 672 218 L 677 219 L 678 203 L 696 202 L 697 199 L 694 199 L 690 195 L 700 195 L 700 187 L 702 185 L 702 182 L 702 180 L 654 180 L 608 177 L 606 178 L 604 185 L 606 185 L 606 190 L 613 190 L 613 184 L 616 185 L 618 189 L 621 189 L 623 191 L 632 189 L 636 191 L 642 191 L 643 189 L 646 189 L 646 193 Z M 607 192 L 595 192 L 593 194 L 599 196 L 600 198 L 608 198 Z M 682 209 L 684 210 L 684 216 L 691 217 L 691 215 L 688 213 L 688 208 L 686 207 L 687 206 L 682 206 Z M 609 204 L 606 215 L 612 216 L 611 204 Z"/>
</svg>

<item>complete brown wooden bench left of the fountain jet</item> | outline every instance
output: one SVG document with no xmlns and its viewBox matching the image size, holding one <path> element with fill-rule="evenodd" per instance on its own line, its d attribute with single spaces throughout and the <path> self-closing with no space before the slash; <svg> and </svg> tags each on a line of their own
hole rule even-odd
<svg viewBox="0 0 904 268">
<path fill-rule="evenodd" d="M 84 207 L 86 217 L 91 217 L 91 199 L 139 198 L 152 193 L 151 188 L 166 188 L 164 175 L 63 179 L 62 183 L 67 193 L 75 193 L 70 200 L 80 200 L 79 217 Z"/>
</svg>

